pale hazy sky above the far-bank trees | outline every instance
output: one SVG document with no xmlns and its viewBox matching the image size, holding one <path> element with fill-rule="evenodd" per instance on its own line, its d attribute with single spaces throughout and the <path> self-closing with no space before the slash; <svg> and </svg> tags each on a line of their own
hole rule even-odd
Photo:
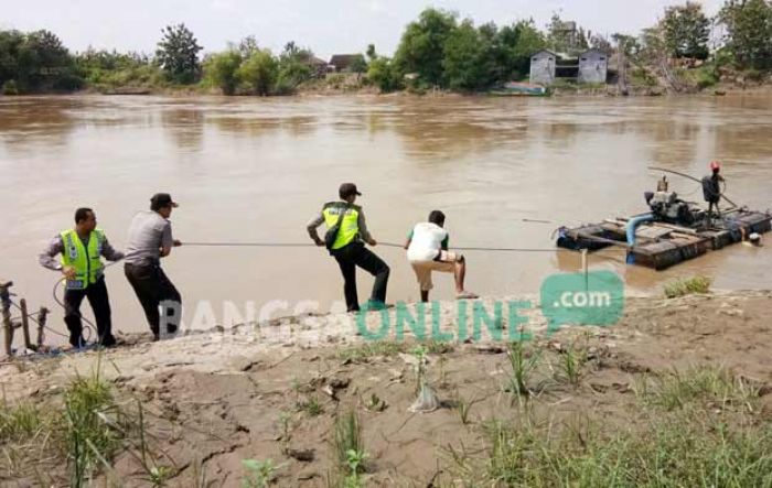
<svg viewBox="0 0 772 488">
<path fill-rule="evenodd" d="M 533 17 L 544 28 L 551 12 L 593 32 L 635 33 L 677 0 L 0 0 L 0 29 L 49 29 L 73 51 L 97 48 L 151 53 L 160 30 L 184 22 L 206 52 L 255 35 L 278 51 L 287 41 L 320 57 L 364 52 L 375 43 L 390 54 L 404 26 L 426 7 L 452 10 L 475 23 L 505 24 Z M 714 14 L 722 0 L 703 0 Z"/>
</svg>

